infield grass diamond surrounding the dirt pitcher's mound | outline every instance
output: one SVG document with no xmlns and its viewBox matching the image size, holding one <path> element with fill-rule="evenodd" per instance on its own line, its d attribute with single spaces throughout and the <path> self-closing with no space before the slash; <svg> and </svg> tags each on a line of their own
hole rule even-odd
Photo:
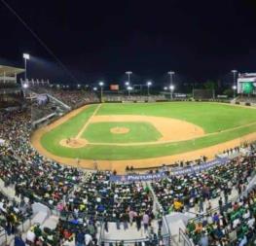
<svg viewBox="0 0 256 246">
<path fill-rule="evenodd" d="M 129 131 L 113 134 L 110 131 L 113 127 L 126 127 Z M 91 143 L 137 143 L 154 142 L 162 135 L 151 123 L 91 123 L 82 137 Z"/>
</svg>

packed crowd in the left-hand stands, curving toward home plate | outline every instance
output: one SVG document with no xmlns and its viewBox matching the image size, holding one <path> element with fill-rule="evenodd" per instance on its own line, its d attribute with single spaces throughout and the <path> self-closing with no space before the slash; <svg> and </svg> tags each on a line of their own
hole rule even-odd
<svg viewBox="0 0 256 246">
<path fill-rule="evenodd" d="M 0 147 L 0 178 L 6 186 L 14 186 L 18 196 L 56 205 L 79 182 L 82 172 L 43 158 L 29 145 L 29 111 L 0 114 L 0 138 L 9 146 Z"/>
</svg>

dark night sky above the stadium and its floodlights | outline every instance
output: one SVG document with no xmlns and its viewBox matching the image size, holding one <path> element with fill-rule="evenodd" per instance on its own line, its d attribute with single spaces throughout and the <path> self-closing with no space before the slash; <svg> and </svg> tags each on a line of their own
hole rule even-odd
<svg viewBox="0 0 256 246">
<path fill-rule="evenodd" d="M 0 62 L 22 65 L 28 77 L 55 82 L 141 82 L 173 70 L 187 81 L 256 72 L 256 4 L 214 1 L 5 0 L 74 75 L 33 37 L 0 0 Z"/>
</svg>

